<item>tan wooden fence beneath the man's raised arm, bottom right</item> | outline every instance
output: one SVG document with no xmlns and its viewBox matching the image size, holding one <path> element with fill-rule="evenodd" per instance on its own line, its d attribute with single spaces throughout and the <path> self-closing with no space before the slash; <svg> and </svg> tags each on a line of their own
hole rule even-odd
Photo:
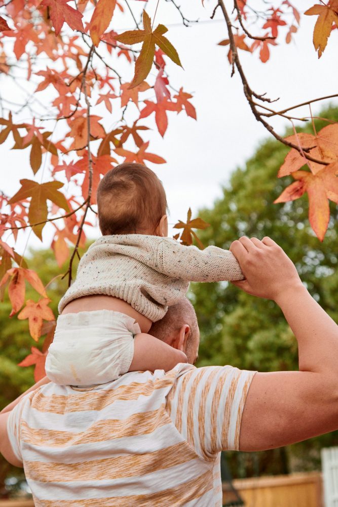
<svg viewBox="0 0 338 507">
<path fill-rule="evenodd" d="M 245 507 L 323 507 L 322 476 L 319 472 L 288 476 L 237 479 L 234 487 Z M 231 502 L 231 491 L 223 487 L 223 504 Z"/>
</svg>

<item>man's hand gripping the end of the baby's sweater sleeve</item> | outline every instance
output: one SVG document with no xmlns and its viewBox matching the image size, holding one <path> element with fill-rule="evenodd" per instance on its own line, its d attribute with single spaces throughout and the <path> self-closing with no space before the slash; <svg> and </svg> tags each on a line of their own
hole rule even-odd
<svg viewBox="0 0 338 507">
<path fill-rule="evenodd" d="M 252 296 L 276 301 L 290 288 L 302 286 L 292 261 L 269 237 L 261 241 L 242 237 L 231 244 L 230 251 L 246 278 L 232 283 Z"/>
</svg>

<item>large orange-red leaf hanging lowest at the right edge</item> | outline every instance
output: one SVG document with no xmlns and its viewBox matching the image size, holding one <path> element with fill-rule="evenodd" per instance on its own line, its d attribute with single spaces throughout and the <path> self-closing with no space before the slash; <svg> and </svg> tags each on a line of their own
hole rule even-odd
<svg viewBox="0 0 338 507">
<path fill-rule="evenodd" d="M 309 221 L 320 241 L 323 241 L 330 219 L 328 199 L 338 204 L 338 162 L 317 171 L 295 171 L 291 183 L 274 202 L 293 201 L 305 192 L 309 197 Z"/>
</svg>

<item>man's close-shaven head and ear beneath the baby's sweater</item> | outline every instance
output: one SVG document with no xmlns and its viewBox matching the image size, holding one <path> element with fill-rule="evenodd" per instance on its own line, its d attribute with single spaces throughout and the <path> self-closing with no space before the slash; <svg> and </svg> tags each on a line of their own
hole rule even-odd
<svg viewBox="0 0 338 507">
<path fill-rule="evenodd" d="M 200 330 L 195 309 L 189 299 L 182 298 L 170 306 L 165 316 L 153 323 L 149 334 L 175 348 L 178 348 L 177 343 L 181 338 L 188 363 L 193 365 L 196 362 Z"/>
</svg>

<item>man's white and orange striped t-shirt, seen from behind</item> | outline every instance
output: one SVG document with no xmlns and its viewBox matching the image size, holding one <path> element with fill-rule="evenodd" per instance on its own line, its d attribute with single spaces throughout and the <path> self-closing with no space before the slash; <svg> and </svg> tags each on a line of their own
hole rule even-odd
<svg viewBox="0 0 338 507">
<path fill-rule="evenodd" d="M 27 394 L 8 434 L 35 506 L 220 506 L 219 451 L 239 448 L 254 373 L 180 364 Z"/>
</svg>

